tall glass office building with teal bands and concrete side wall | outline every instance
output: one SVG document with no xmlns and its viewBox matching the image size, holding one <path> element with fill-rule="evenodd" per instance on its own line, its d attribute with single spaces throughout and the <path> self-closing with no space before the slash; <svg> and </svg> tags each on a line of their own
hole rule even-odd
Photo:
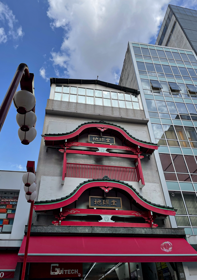
<svg viewBox="0 0 197 280">
<path fill-rule="evenodd" d="M 129 42 L 119 84 L 136 83 L 151 140 L 160 145 L 155 157 L 166 201 L 177 209 L 177 227 L 197 235 L 197 57 Z"/>
</svg>

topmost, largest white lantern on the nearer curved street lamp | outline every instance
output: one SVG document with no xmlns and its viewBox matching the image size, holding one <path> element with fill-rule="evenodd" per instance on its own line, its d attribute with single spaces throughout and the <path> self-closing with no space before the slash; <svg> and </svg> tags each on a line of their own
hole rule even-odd
<svg viewBox="0 0 197 280">
<path fill-rule="evenodd" d="M 14 96 L 14 106 L 19 114 L 26 114 L 35 107 L 35 96 L 27 90 L 19 90 Z"/>
</svg>

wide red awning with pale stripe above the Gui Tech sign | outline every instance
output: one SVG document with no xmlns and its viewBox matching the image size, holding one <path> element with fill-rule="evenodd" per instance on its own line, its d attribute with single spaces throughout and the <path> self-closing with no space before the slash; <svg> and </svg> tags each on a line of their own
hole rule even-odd
<svg viewBox="0 0 197 280">
<path fill-rule="evenodd" d="M 171 243 L 171 251 L 161 249 L 169 248 L 164 242 Z M 31 236 L 27 262 L 197 262 L 197 252 L 184 238 Z"/>
</svg>

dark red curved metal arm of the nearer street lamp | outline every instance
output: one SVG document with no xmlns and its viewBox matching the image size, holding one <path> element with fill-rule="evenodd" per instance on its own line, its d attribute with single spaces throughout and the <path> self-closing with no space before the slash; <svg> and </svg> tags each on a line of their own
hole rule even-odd
<svg viewBox="0 0 197 280">
<path fill-rule="evenodd" d="M 23 74 L 24 73 L 24 74 Z M 22 78 L 22 75 L 25 75 L 25 80 L 28 80 L 30 78 L 29 75 L 29 68 L 27 64 L 21 63 L 18 65 L 18 68 L 16 69 L 16 73 L 14 74 L 14 78 L 12 79 L 12 82 L 5 94 L 5 97 L 3 99 L 3 102 L 1 103 L 0 107 L 0 132 L 1 128 L 3 126 L 3 123 L 5 122 L 5 118 L 7 116 L 7 113 L 10 109 L 10 106 L 12 104 L 12 100 L 14 99 L 14 95 L 16 93 L 16 89 L 20 83 L 20 80 Z"/>
</svg>

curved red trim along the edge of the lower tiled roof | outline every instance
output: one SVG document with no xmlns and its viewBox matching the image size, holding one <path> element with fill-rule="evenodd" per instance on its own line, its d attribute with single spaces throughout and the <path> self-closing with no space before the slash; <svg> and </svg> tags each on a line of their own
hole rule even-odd
<svg viewBox="0 0 197 280">
<path fill-rule="evenodd" d="M 84 183 L 80 188 L 78 188 L 78 190 L 76 191 L 76 193 L 74 195 L 72 195 L 72 197 L 70 197 L 66 200 L 63 200 L 63 201 L 59 201 L 59 202 L 57 201 L 52 204 L 43 204 L 43 205 L 37 204 L 36 205 L 36 202 L 35 202 L 34 210 L 43 211 L 43 210 L 52 210 L 52 209 L 65 207 L 65 206 L 71 204 L 72 202 L 74 202 L 75 200 L 77 200 L 85 190 L 87 190 L 89 188 L 93 188 L 93 187 L 98 187 L 98 186 L 99 187 L 107 186 L 107 187 L 119 188 L 121 190 L 124 190 L 127 193 L 129 193 L 138 204 L 140 204 L 141 206 L 143 206 L 146 209 L 151 210 L 155 213 L 164 214 L 166 216 L 168 216 L 168 215 L 175 216 L 175 214 L 176 214 L 174 210 L 161 209 L 161 208 L 157 208 L 157 206 L 153 206 L 153 205 L 146 203 L 145 201 L 140 199 L 140 197 L 138 197 L 137 194 L 135 193 L 135 191 L 132 190 L 130 187 L 125 186 L 124 184 L 121 184 L 120 182 L 111 182 L 111 181 L 95 181 L 95 182 L 90 181 L 88 183 Z"/>
</svg>

